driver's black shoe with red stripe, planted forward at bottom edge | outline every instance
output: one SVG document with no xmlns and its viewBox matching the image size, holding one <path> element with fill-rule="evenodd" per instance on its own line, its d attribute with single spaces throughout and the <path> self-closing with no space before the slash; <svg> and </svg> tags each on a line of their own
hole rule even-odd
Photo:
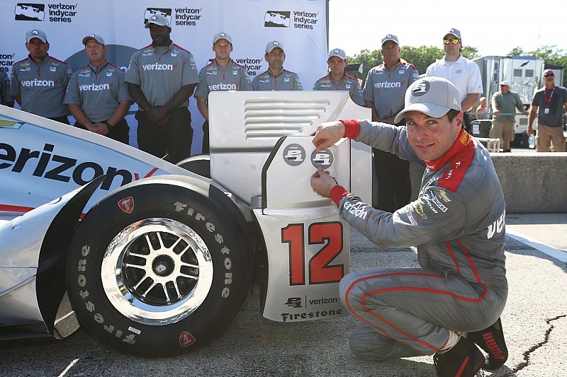
<svg viewBox="0 0 567 377">
<path fill-rule="evenodd" d="M 484 361 L 481 350 L 466 337 L 461 337 L 449 351 L 433 355 L 438 377 L 473 377 Z"/>
</svg>

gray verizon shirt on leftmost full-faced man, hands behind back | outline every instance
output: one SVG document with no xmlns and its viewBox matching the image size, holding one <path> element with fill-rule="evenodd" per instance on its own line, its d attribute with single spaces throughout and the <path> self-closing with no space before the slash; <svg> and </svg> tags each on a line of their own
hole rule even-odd
<svg viewBox="0 0 567 377">
<path fill-rule="evenodd" d="M 22 98 L 21 108 L 46 118 L 69 115 L 63 104 L 71 68 L 65 62 L 47 56 L 41 64 L 28 57 L 13 64 L 10 95 Z"/>
</svg>

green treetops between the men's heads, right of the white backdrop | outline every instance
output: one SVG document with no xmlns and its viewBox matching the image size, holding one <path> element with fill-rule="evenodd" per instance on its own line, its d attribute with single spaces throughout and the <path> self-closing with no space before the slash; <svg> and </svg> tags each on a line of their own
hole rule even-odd
<svg viewBox="0 0 567 377">
<path fill-rule="evenodd" d="M 415 65 L 417 71 L 420 74 L 425 74 L 427 66 L 437 62 L 444 56 L 445 52 L 442 47 L 437 46 L 402 46 L 400 51 L 400 58 L 404 59 L 406 62 Z M 478 49 L 476 47 L 464 47 L 462 52 L 463 56 L 468 59 L 474 59 L 478 57 Z M 362 63 L 363 72 L 360 74 L 359 78 L 366 80 L 368 76 L 368 71 L 373 66 L 376 66 L 383 62 L 382 53 L 380 50 L 362 50 L 359 54 L 355 54 L 354 57 L 349 57 L 350 63 Z"/>
</svg>

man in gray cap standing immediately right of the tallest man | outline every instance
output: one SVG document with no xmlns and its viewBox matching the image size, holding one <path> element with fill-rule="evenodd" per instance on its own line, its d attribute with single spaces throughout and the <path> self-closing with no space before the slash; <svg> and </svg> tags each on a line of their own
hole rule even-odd
<svg viewBox="0 0 567 377">
<path fill-rule="evenodd" d="M 199 72 L 199 85 L 195 91 L 197 108 L 205 118 L 201 153 L 209 153 L 208 145 L 208 93 L 213 91 L 250 91 L 246 69 L 230 59 L 232 37 L 221 32 L 213 37 L 215 59 Z"/>
</svg>

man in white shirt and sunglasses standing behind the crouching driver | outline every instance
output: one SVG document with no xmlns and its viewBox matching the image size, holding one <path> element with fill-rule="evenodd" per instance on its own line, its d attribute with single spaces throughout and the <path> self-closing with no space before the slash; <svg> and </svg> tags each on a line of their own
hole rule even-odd
<svg viewBox="0 0 567 377">
<path fill-rule="evenodd" d="M 468 111 L 478 100 L 478 95 L 483 93 L 481 70 L 475 62 L 461 56 L 463 42 L 459 30 L 451 28 L 445 33 L 443 49 L 445 56 L 428 66 L 425 76 L 443 77 L 459 89 L 461 108 L 464 111 L 464 125 L 470 130 L 471 118 Z"/>
</svg>

